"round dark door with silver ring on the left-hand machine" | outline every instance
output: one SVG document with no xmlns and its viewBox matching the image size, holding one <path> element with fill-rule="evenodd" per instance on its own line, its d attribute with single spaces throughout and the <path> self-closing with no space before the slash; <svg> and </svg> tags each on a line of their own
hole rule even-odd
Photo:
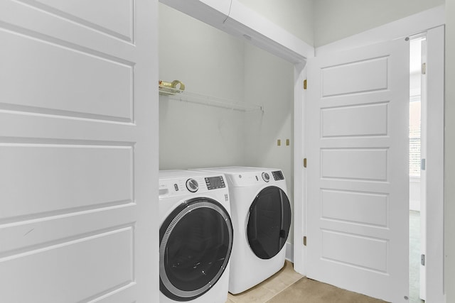
<svg viewBox="0 0 455 303">
<path fill-rule="evenodd" d="M 166 297 L 195 299 L 223 275 L 232 250 L 232 223 L 220 203 L 188 200 L 166 218 L 159 233 L 159 286 Z"/>
</svg>

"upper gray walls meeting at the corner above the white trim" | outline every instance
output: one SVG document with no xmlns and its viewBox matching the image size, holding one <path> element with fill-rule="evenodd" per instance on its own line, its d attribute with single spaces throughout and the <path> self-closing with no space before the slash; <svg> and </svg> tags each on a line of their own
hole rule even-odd
<svg viewBox="0 0 455 303">
<path fill-rule="evenodd" d="M 315 48 L 444 4 L 444 0 L 239 1 Z"/>
</svg>

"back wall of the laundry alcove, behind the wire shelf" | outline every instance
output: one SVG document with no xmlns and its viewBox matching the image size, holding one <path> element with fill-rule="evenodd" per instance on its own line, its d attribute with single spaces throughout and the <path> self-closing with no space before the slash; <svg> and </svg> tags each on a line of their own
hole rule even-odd
<svg viewBox="0 0 455 303">
<path fill-rule="evenodd" d="M 186 90 L 243 100 L 244 43 L 164 4 L 159 5 L 159 77 Z M 160 169 L 241 165 L 243 114 L 160 96 Z"/>
</svg>

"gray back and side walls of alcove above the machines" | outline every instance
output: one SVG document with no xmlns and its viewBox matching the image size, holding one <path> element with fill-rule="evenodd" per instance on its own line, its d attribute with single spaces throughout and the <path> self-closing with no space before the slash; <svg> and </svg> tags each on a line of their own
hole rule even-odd
<svg viewBox="0 0 455 303">
<path fill-rule="evenodd" d="M 159 97 L 160 170 L 279 167 L 293 201 L 294 65 L 164 4 L 159 16 L 159 77 L 186 86 Z"/>
</svg>

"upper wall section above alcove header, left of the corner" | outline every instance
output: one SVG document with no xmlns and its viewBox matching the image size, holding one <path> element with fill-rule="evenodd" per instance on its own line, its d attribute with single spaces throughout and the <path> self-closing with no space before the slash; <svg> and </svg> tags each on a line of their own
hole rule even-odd
<svg viewBox="0 0 455 303">
<path fill-rule="evenodd" d="M 239 0 L 309 45 L 314 45 L 313 0 Z"/>
</svg>

